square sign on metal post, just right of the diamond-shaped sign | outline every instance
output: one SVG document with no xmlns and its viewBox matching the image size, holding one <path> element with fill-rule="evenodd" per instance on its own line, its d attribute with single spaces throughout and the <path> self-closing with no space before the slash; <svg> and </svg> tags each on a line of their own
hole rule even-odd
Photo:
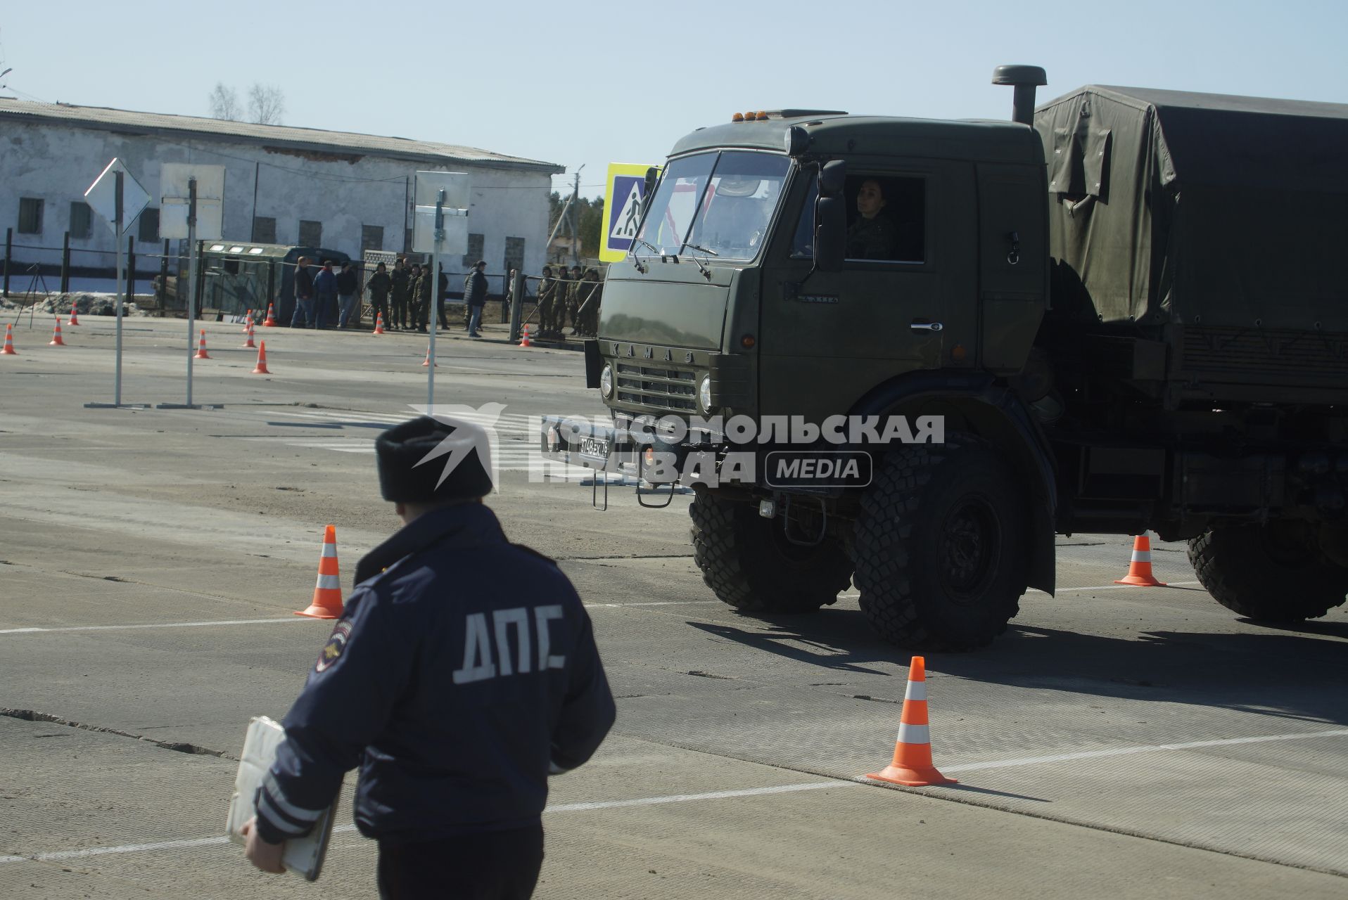
<svg viewBox="0 0 1348 900">
<path fill-rule="evenodd" d="M 220 404 L 191 401 L 191 366 L 195 358 L 193 338 L 197 333 L 197 271 L 201 264 L 201 241 L 222 237 L 225 167 L 191 163 L 164 163 L 159 174 L 163 194 L 160 237 L 187 238 L 187 401 L 160 403 L 160 410 L 218 410 Z"/>
</svg>

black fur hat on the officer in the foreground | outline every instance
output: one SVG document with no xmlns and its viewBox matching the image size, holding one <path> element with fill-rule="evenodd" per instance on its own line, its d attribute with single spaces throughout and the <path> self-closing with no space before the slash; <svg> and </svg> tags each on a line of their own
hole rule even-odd
<svg viewBox="0 0 1348 900">
<path fill-rule="evenodd" d="M 470 423 L 418 416 L 375 438 L 375 453 L 380 492 L 392 503 L 477 500 L 492 490 L 487 435 Z"/>
</svg>

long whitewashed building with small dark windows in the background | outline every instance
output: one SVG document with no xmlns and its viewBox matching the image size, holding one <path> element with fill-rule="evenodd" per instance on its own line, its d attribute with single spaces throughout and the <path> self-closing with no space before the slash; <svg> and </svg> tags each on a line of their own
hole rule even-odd
<svg viewBox="0 0 1348 900">
<path fill-rule="evenodd" d="M 0 98 L 0 230 L 13 229 L 20 265 L 59 264 L 65 232 L 74 267 L 112 265 L 112 229 L 84 203 L 84 191 L 113 156 L 151 197 L 128 232 L 137 253 L 163 249 L 156 244 L 162 163 L 225 167 L 225 240 L 321 247 L 352 257 L 411 249 L 417 170 L 468 172 L 468 253 L 446 260 L 445 269 L 466 271 L 484 259 L 493 274 L 520 263 L 526 272 L 543 265 L 551 175 L 565 171 L 406 137 Z"/>
</svg>

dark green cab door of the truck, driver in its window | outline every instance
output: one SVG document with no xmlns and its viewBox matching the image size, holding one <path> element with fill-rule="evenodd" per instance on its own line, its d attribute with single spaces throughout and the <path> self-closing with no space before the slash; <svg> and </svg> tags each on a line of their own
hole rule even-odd
<svg viewBox="0 0 1348 900">
<path fill-rule="evenodd" d="M 975 365 L 973 167 L 849 160 L 840 272 L 810 274 L 816 189 L 799 182 L 764 265 L 762 412 L 822 418 L 896 375 Z"/>
</svg>

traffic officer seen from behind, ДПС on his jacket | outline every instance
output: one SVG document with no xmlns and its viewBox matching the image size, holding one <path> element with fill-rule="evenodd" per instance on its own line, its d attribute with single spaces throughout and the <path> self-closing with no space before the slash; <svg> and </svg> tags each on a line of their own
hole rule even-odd
<svg viewBox="0 0 1348 900">
<path fill-rule="evenodd" d="M 481 504 L 480 426 L 421 416 L 375 450 L 406 524 L 356 567 L 243 829 L 247 857 L 283 870 L 283 842 L 359 765 L 380 896 L 528 897 L 547 777 L 588 761 L 615 718 L 589 617 L 557 563 L 511 544 Z"/>
</svg>

